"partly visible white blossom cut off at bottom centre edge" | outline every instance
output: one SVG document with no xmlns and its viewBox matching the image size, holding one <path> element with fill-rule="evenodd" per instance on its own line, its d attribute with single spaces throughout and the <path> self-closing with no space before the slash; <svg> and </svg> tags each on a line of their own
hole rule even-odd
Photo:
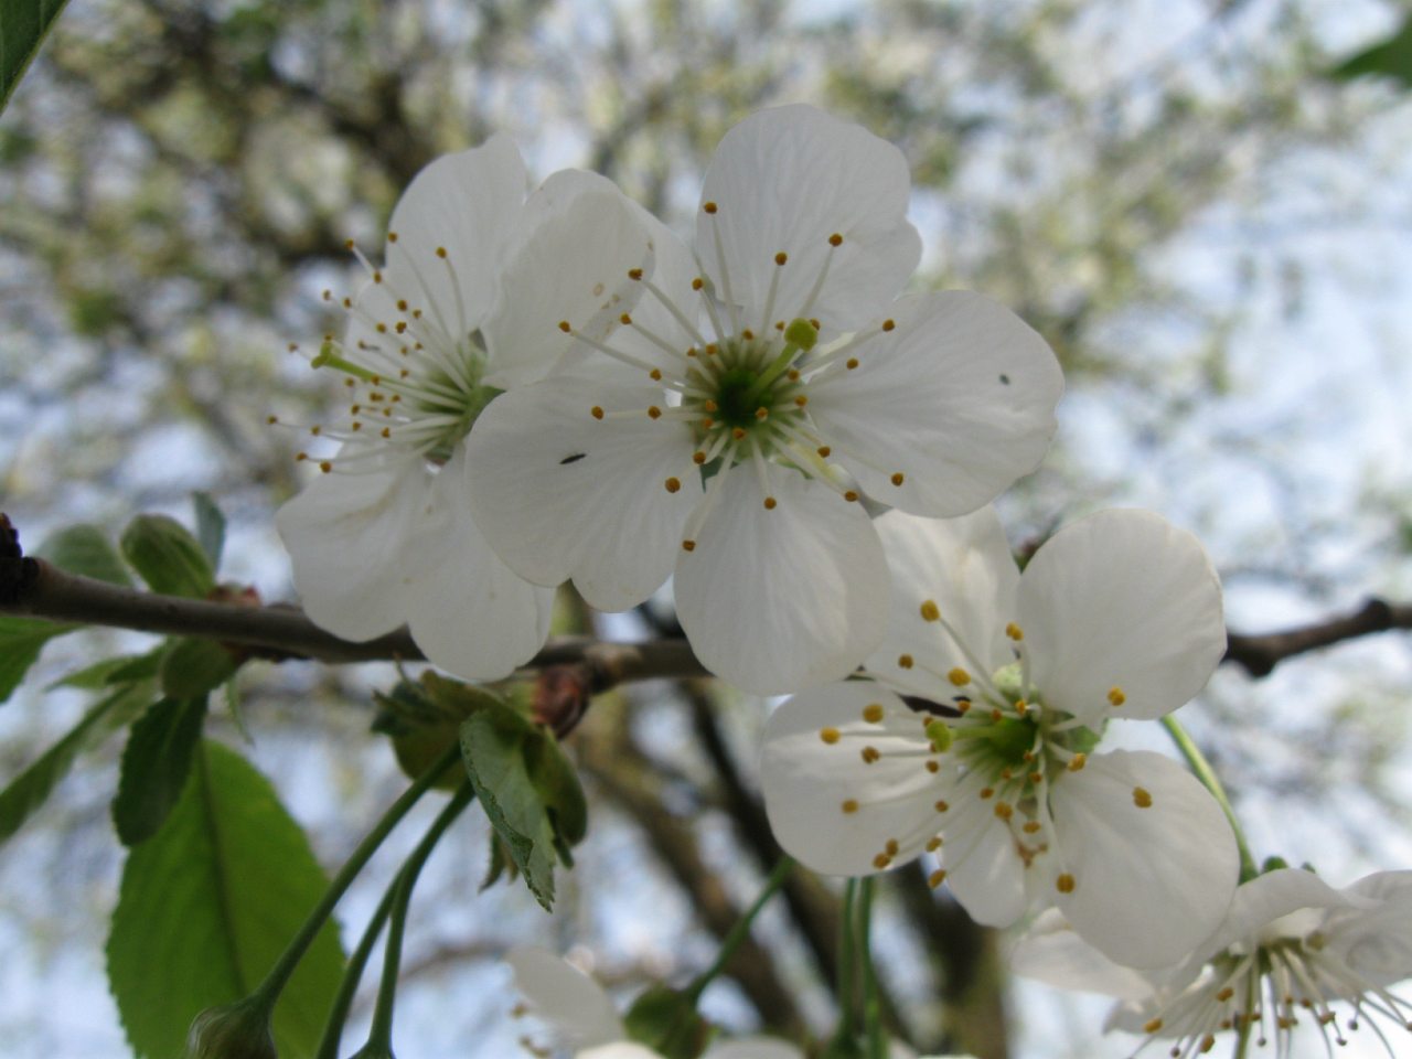
<svg viewBox="0 0 1412 1059">
<path fill-rule="evenodd" d="M 568 960 L 531 947 L 511 949 L 505 959 L 525 1000 L 521 1014 L 548 1022 L 556 1042 L 576 1059 L 661 1059 L 651 1048 L 628 1041 L 627 1027 L 609 994 Z M 528 1038 L 521 1038 L 521 1043 L 546 1055 Z M 702 1059 L 803 1059 L 803 1055 L 784 1041 L 754 1036 L 719 1041 Z"/>
</svg>

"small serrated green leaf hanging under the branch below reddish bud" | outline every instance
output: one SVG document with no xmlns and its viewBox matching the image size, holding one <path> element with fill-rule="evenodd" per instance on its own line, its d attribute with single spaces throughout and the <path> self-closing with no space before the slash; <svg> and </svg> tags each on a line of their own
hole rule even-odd
<svg viewBox="0 0 1412 1059">
<path fill-rule="evenodd" d="M 546 746 L 549 748 L 546 748 Z M 476 796 L 504 840 L 530 892 L 546 911 L 554 908 L 555 854 L 572 867 L 569 832 L 580 823 L 565 796 L 558 744 L 542 727 L 505 703 L 477 709 L 460 727 L 462 758 Z M 572 770 L 569 770 L 572 774 Z M 578 779 L 573 781 L 575 788 Z M 579 829 L 582 837 L 582 829 Z"/>
</svg>

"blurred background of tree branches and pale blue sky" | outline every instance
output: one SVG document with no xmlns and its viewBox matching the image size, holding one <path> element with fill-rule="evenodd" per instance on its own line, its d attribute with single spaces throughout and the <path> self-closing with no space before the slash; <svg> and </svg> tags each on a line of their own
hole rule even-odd
<svg viewBox="0 0 1412 1059">
<path fill-rule="evenodd" d="M 345 241 L 376 253 L 424 164 L 504 130 L 538 176 L 592 168 L 682 225 L 726 128 L 805 100 L 907 154 L 918 282 L 998 298 L 1063 361 L 1056 448 L 1001 504 L 1017 548 L 1142 504 L 1203 537 L 1236 631 L 1406 600 L 1412 121 L 1396 78 L 1329 76 L 1398 24 L 1361 0 L 72 0 L 0 119 L 3 507 L 32 545 L 186 520 L 206 490 L 230 518 L 223 575 L 291 599 L 273 513 L 301 441 L 267 417 L 313 422 L 337 394 L 287 346 L 342 325 L 321 294 L 360 282 Z M 599 631 L 669 633 L 666 614 Z M 89 650 L 55 644 L 0 710 L 0 778 L 73 723 L 80 698 L 38 689 Z M 241 671 L 250 753 L 325 863 L 401 786 L 369 736 L 394 676 Z M 1412 866 L 1409 690 L 1389 637 L 1261 678 L 1223 668 L 1187 724 L 1257 856 L 1336 882 Z M 570 741 L 592 833 L 552 919 L 522 887 L 476 892 L 486 829 L 463 822 L 414 907 L 404 1053 L 511 1053 L 500 956 L 520 940 L 572 947 L 627 993 L 705 966 L 775 856 L 762 713 L 707 683 L 594 700 Z M 123 1051 L 102 971 L 116 750 L 0 858 L 16 1059 Z M 387 878 L 354 892 L 346 940 Z M 881 974 L 918 1048 L 1131 1051 L 1096 1042 L 1101 1008 L 1010 980 L 1004 939 L 921 873 L 881 901 Z M 801 873 L 709 1011 L 825 1029 L 837 915 L 836 888 Z"/>
</svg>

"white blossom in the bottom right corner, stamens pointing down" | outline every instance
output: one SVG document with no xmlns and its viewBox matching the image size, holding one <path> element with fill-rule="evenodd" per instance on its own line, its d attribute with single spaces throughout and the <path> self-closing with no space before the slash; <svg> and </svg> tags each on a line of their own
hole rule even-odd
<svg viewBox="0 0 1412 1059">
<path fill-rule="evenodd" d="M 1347 1043 L 1344 1027 L 1363 1025 L 1395 1056 L 1405 1049 L 1377 1019 L 1412 1029 L 1412 1001 L 1391 990 L 1412 977 L 1412 871 L 1374 873 L 1343 890 L 1296 868 L 1257 875 L 1189 959 L 1141 976 L 1108 963 L 1062 921 L 1036 928 L 1015 947 L 1018 973 L 1117 997 L 1106 1028 L 1172 1039 L 1173 1056 L 1210 1052 L 1223 1034 L 1233 1055 L 1254 1039 L 1286 1056 L 1299 1027 L 1330 1049 Z M 1343 1004 L 1351 1012 L 1340 1027 Z"/>
</svg>

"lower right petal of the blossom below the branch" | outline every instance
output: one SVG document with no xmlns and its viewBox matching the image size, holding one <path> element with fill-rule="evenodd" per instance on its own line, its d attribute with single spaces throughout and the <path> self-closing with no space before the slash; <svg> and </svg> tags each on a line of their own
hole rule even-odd
<svg viewBox="0 0 1412 1059">
<path fill-rule="evenodd" d="M 1176 963 L 1221 923 L 1240 857 L 1220 805 L 1176 762 L 1149 751 L 1089 757 L 1051 792 L 1058 857 L 1051 891 L 1075 929 L 1128 967 Z"/>
</svg>

